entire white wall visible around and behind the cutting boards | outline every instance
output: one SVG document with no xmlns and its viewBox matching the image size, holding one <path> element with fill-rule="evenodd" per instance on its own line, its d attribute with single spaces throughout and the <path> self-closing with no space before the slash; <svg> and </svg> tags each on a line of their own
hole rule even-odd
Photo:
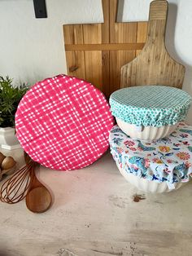
<svg viewBox="0 0 192 256">
<path fill-rule="evenodd" d="M 123 21 L 147 20 L 151 0 L 120 0 Z M 192 95 L 192 1 L 169 0 L 166 44 L 185 64 L 183 89 Z M 103 21 L 101 0 L 46 0 L 47 19 L 35 19 L 32 0 L 0 0 L 0 74 L 34 83 L 66 73 L 62 24 Z M 192 124 L 192 109 L 188 121 Z"/>
</svg>

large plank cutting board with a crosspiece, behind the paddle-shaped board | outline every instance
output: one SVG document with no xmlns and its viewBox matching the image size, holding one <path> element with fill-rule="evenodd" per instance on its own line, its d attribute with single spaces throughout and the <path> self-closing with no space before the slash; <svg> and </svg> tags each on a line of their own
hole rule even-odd
<svg viewBox="0 0 192 256">
<path fill-rule="evenodd" d="M 120 68 L 133 60 L 146 42 L 147 22 L 116 22 L 117 0 L 103 0 L 103 24 L 65 24 L 68 74 L 103 93 L 120 89 Z"/>
</svg>

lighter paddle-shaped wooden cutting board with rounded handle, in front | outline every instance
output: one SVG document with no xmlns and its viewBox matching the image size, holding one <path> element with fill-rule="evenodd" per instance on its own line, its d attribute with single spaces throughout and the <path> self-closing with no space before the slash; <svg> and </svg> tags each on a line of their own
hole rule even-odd
<svg viewBox="0 0 192 256">
<path fill-rule="evenodd" d="M 120 86 L 164 85 L 181 88 L 185 67 L 168 54 L 165 29 L 168 2 L 151 2 L 146 45 L 136 59 L 121 68 Z"/>
</svg>

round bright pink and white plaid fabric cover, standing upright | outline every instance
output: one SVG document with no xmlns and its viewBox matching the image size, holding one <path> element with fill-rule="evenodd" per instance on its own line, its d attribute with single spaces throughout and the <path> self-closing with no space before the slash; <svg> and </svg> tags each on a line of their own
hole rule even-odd
<svg viewBox="0 0 192 256">
<path fill-rule="evenodd" d="M 17 138 L 42 166 L 74 170 L 106 152 L 114 125 L 103 93 L 76 77 L 59 75 L 37 82 L 15 114 Z"/>
</svg>

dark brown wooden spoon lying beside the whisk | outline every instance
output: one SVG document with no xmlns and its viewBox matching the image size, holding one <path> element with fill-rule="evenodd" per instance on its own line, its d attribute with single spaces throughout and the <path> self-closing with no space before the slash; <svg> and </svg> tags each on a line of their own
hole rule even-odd
<svg viewBox="0 0 192 256">
<path fill-rule="evenodd" d="M 31 185 L 25 198 L 28 210 L 33 213 L 43 213 L 50 208 L 52 197 L 49 190 L 37 179 L 35 168 L 30 173 Z"/>
</svg>

